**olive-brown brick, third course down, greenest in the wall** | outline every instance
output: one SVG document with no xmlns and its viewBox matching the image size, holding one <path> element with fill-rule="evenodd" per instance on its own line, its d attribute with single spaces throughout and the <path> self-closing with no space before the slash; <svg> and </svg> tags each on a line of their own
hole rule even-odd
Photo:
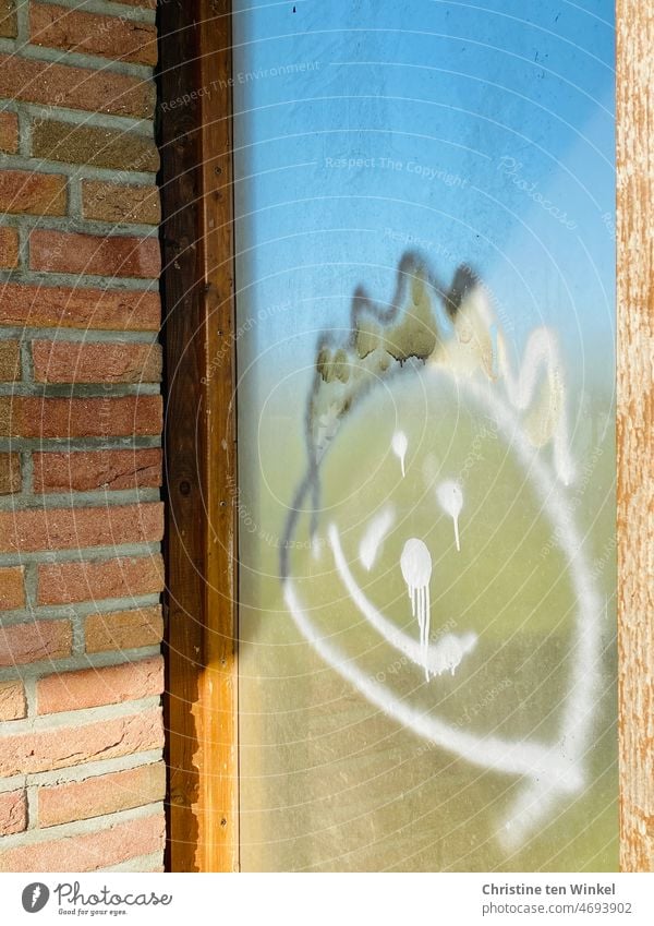
<svg viewBox="0 0 654 926">
<path fill-rule="evenodd" d="M 32 154 L 64 164 L 88 164 L 120 171 L 154 173 L 159 169 L 154 139 L 136 132 L 53 120 L 34 123 Z"/>
</svg>

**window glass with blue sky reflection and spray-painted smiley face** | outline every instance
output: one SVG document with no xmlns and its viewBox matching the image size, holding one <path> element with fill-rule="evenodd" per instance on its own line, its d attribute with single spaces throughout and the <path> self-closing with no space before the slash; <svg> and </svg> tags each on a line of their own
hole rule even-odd
<svg viewBox="0 0 654 926">
<path fill-rule="evenodd" d="M 235 3 L 243 870 L 615 870 L 607 0 Z"/>
</svg>

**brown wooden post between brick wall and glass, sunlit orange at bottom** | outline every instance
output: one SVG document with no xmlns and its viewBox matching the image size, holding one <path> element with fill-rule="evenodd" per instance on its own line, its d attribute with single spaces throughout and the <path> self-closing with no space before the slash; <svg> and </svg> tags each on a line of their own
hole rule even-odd
<svg viewBox="0 0 654 926">
<path fill-rule="evenodd" d="M 239 866 L 230 8 L 159 8 L 173 871 Z"/>
</svg>

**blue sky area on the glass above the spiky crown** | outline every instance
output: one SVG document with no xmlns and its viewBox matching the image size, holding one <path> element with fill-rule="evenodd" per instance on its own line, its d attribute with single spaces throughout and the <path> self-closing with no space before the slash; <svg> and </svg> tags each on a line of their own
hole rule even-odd
<svg viewBox="0 0 654 926">
<path fill-rule="evenodd" d="M 518 350 L 554 325 L 571 369 L 607 382 L 613 5 L 239 0 L 239 314 L 267 313 L 241 357 L 281 341 L 310 364 L 412 246 L 445 281 L 475 266 Z"/>
</svg>

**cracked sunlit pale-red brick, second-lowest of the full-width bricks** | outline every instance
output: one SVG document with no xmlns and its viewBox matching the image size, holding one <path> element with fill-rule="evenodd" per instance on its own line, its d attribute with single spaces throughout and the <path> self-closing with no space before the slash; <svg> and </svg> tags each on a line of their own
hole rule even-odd
<svg viewBox="0 0 654 926">
<path fill-rule="evenodd" d="M 31 730 L 0 736 L 0 775 L 34 774 L 158 749 L 162 745 L 159 708 L 81 726 Z"/>
</svg>

